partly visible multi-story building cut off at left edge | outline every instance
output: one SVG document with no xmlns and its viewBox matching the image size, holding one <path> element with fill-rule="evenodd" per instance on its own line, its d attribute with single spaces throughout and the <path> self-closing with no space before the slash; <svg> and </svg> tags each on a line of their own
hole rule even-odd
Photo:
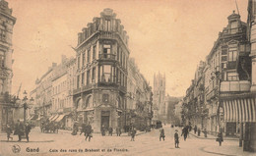
<svg viewBox="0 0 256 156">
<path fill-rule="evenodd" d="M 13 78 L 12 36 L 16 18 L 12 16 L 12 12 L 8 2 L 0 1 L 0 126 L 2 129 L 9 121 L 13 121 L 14 113 L 11 103 L 4 98 L 4 94 L 11 93 Z"/>
</svg>

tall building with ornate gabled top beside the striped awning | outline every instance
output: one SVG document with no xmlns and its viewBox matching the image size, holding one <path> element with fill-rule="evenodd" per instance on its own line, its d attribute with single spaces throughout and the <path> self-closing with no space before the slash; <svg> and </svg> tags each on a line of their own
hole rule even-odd
<svg viewBox="0 0 256 156">
<path fill-rule="evenodd" d="M 238 132 L 241 119 L 230 116 L 233 115 L 234 106 L 239 107 L 240 104 L 236 105 L 234 101 L 226 101 L 225 98 L 248 92 L 251 73 L 247 26 L 234 12 L 227 20 L 228 25 L 219 33 L 218 40 L 207 56 L 209 68 L 206 75 L 209 75 L 209 79 L 206 80 L 209 80 L 209 85 L 205 86 L 211 130 L 219 131 L 221 127 L 226 135 Z"/>
</svg>

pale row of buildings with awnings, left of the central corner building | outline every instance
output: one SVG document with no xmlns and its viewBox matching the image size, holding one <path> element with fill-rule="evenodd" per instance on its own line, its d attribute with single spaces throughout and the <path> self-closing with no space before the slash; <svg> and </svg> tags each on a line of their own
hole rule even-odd
<svg viewBox="0 0 256 156">
<path fill-rule="evenodd" d="M 61 63 L 52 63 L 48 71 L 35 80 L 35 88 L 31 92 L 35 106 L 32 109 L 32 120 L 49 120 L 60 123 L 63 129 L 73 126 L 73 89 L 76 73 L 76 59 L 62 55 Z M 32 116 L 32 115 L 31 115 Z"/>
</svg>

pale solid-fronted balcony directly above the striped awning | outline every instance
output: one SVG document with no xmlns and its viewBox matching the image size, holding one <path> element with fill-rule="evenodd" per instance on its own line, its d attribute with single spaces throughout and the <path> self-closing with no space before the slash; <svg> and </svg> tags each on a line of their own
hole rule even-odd
<svg viewBox="0 0 256 156">
<path fill-rule="evenodd" d="M 248 80 L 222 81 L 221 92 L 228 91 L 250 91 L 251 83 Z"/>
</svg>

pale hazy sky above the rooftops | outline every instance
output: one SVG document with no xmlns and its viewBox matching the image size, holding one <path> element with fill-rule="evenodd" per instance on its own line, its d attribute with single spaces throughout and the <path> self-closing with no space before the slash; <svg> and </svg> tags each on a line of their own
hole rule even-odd
<svg viewBox="0 0 256 156">
<path fill-rule="evenodd" d="M 129 39 L 130 57 L 153 84 L 154 73 L 165 73 L 166 93 L 183 96 L 200 60 L 205 60 L 236 10 L 235 0 L 7 0 L 17 18 L 12 92 L 32 90 L 52 62 L 75 56 L 77 33 L 111 8 Z M 242 21 L 247 0 L 236 0 Z M 236 11 L 237 12 L 237 11 Z"/>
</svg>

